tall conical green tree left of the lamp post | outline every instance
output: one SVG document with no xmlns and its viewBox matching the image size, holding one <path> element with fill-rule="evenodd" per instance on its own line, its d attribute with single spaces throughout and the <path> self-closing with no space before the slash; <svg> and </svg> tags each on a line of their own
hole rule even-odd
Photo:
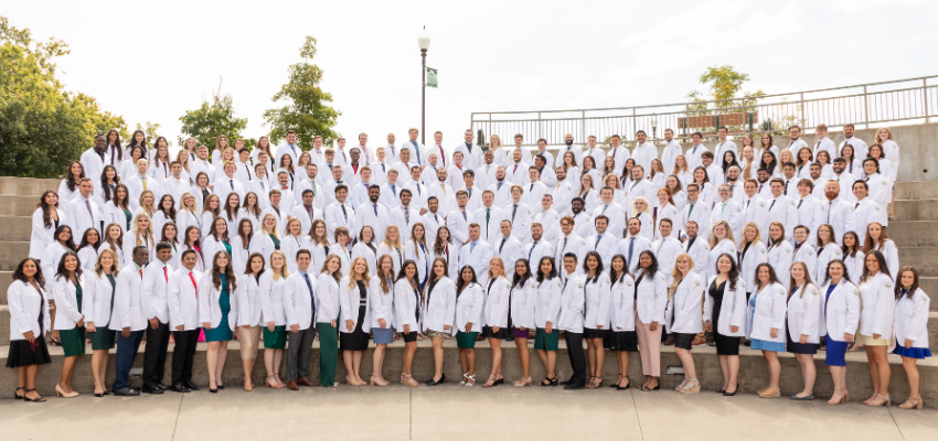
<svg viewBox="0 0 938 441">
<path fill-rule="evenodd" d="M 326 93 L 319 86 L 322 82 L 322 69 L 311 64 L 316 56 L 316 39 L 306 37 L 300 49 L 301 63 L 289 67 L 290 80 L 274 95 L 273 101 L 284 101 L 283 107 L 264 111 L 265 125 L 270 126 L 270 142 L 278 143 L 287 130 L 294 130 L 299 138 L 299 144 L 307 149 L 312 146 L 317 135 L 323 142 L 332 142 L 338 135 L 332 129 L 341 111 L 328 105 L 332 103 L 332 94 Z"/>
</svg>

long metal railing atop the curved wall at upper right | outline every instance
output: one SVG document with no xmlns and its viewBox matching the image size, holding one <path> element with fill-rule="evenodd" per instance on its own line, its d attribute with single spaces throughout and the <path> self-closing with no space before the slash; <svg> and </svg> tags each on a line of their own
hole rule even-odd
<svg viewBox="0 0 938 441">
<path fill-rule="evenodd" d="M 566 133 L 572 133 L 576 143 L 584 143 L 590 135 L 605 143 L 612 135 L 635 140 L 639 130 L 644 130 L 649 139 L 662 139 L 664 130 L 672 129 L 675 138 L 685 140 L 695 131 L 715 136 L 720 126 L 727 126 L 731 133 L 738 136 L 743 132 L 787 135 L 787 128 L 792 125 L 812 132 L 821 123 L 830 129 L 853 123 L 861 129 L 884 122 L 929 122 L 938 117 L 936 79 L 938 75 L 758 98 L 654 106 L 472 112 L 470 127 L 479 136 L 480 144 L 489 142 L 491 135 L 498 135 L 502 144 L 511 146 L 514 135 L 521 133 L 525 146 L 535 146 L 540 138 L 548 146 L 562 146 Z M 703 106 L 706 108 L 701 109 Z"/>
</svg>

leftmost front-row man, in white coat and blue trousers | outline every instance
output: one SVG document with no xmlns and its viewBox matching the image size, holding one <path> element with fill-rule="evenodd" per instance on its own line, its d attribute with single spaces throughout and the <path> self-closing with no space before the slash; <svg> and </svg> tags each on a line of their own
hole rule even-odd
<svg viewBox="0 0 938 441">
<path fill-rule="evenodd" d="M 156 181 L 154 181 L 156 182 Z M 126 256 L 125 256 L 126 258 Z M 130 366 L 140 348 L 147 318 L 143 314 L 141 294 L 143 291 L 142 267 L 147 265 L 150 251 L 146 246 L 134 248 L 134 256 L 120 273 L 114 288 L 114 315 L 110 319 L 117 331 L 117 355 L 114 361 L 114 395 L 136 397 L 140 391 L 130 387 Z"/>
</svg>

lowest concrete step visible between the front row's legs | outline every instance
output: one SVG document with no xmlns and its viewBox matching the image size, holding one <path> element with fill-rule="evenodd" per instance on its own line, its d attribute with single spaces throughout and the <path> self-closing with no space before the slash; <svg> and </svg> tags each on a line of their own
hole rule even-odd
<svg viewBox="0 0 938 441">
<path fill-rule="evenodd" d="M 134 367 L 142 367 L 146 344 L 147 343 L 143 342 L 143 344 L 140 345 L 140 349 L 137 353 L 137 357 L 134 359 Z M 532 353 L 531 376 L 535 379 L 544 378 L 546 376 L 546 373 L 541 362 L 533 354 L 534 351 L 532 349 L 532 346 L 533 340 L 529 341 L 527 346 L 527 351 Z M 170 355 L 167 357 L 163 377 L 163 383 L 166 384 L 169 384 L 169 378 L 172 372 L 172 347 L 173 344 L 170 343 Z M 206 388 L 209 384 L 209 374 L 205 361 L 206 347 L 206 343 L 200 343 L 195 353 L 195 358 L 192 367 L 193 383 L 202 387 L 202 390 L 195 394 L 207 394 Z M 520 378 L 521 367 L 518 357 L 518 348 L 514 344 L 511 343 L 503 343 L 501 348 L 502 373 L 504 374 L 505 380 L 511 381 L 513 379 Z M 263 387 L 266 370 L 263 363 L 264 349 L 262 348 L 260 351 L 262 353 L 257 356 L 257 363 L 254 365 L 254 370 L 252 370 L 251 377 L 256 386 Z M 6 357 L 8 352 L 8 346 L 0 346 L 0 363 L 6 364 Z M 398 378 L 401 375 L 403 352 L 404 343 L 401 341 L 387 346 L 382 374 L 385 378 L 392 380 L 392 385 L 390 387 L 404 387 L 396 383 L 396 378 Z M 455 340 L 448 340 L 444 343 L 444 373 L 447 376 L 446 384 L 455 385 L 461 375 L 461 369 L 459 366 L 459 356 Z M 58 383 L 60 373 L 62 370 L 62 354 L 63 353 L 61 347 L 51 347 L 50 355 L 52 356 L 52 363 L 40 367 L 39 377 L 36 379 L 36 388 L 39 389 L 39 392 L 41 395 L 44 395 L 46 397 L 54 396 L 54 387 Z M 87 347 L 86 354 L 90 354 L 90 346 Z M 108 387 L 114 383 L 115 349 L 111 349 L 110 354 L 111 356 L 108 357 L 109 366 L 107 368 L 106 380 Z M 242 364 L 239 363 L 239 354 L 241 353 L 238 342 L 231 342 L 228 344 L 227 363 L 225 363 L 225 367 L 222 374 L 222 380 L 228 386 L 228 388 L 238 390 L 241 389 L 241 385 L 244 381 L 244 369 L 242 367 Z M 362 378 L 367 378 L 372 373 L 373 354 L 373 348 L 369 348 L 363 354 L 361 365 Z M 476 378 L 479 385 L 484 381 L 484 378 L 488 376 L 487 373 L 491 369 L 491 354 L 492 353 L 488 343 L 479 342 L 476 345 L 476 372 L 478 373 Z M 695 346 L 693 349 L 693 357 L 694 366 L 697 372 L 697 378 L 701 380 L 702 388 L 706 390 L 716 390 L 717 388 L 720 388 L 723 384 L 723 374 L 720 369 L 720 359 L 716 355 L 715 348 L 708 346 Z M 780 353 L 778 354 L 778 357 L 781 362 L 780 388 L 782 395 L 790 395 L 800 391 L 803 387 L 803 383 L 801 379 L 801 372 L 798 362 L 795 359 L 795 356 L 789 353 Z M 938 357 L 927 358 L 918 363 L 919 374 L 923 378 L 923 381 L 920 384 L 920 394 L 926 401 L 930 401 L 938 398 L 938 383 L 927 380 L 928 378 L 935 378 L 938 375 L 938 359 L 936 358 Z M 906 377 L 905 370 L 902 367 L 900 357 L 898 355 L 889 355 L 888 361 L 892 367 L 892 381 L 889 384 L 889 392 L 896 397 L 908 396 L 908 379 Z M 846 362 L 849 373 L 846 376 L 848 389 L 851 391 L 851 396 L 868 397 L 870 395 L 872 395 L 873 389 L 872 384 L 870 381 L 870 375 L 867 374 L 867 362 L 865 354 L 848 353 Z M 662 375 L 660 379 L 661 388 L 665 390 L 673 389 L 674 386 L 680 384 L 683 379 L 683 376 L 681 374 L 668 375 L 667 369 L 670 366 L 680 367 L 681 362 L 674 353 L 674 346 L 662 346 Z M 814 386 L 814 394 L 819 398 L 827 399 L 831 396 L 833 391 L 833 381 L 831 379 L 830 369 L 824 366 L 823 352 L 820 352 L 818 355 L 814 356 L 814 366 L 818 369 L 818 379 Z M 281 365 L 279 367 L 279 370 L 283 378 L 285 376 L 285 367 Z M 312 352 L 310 353 L 309 370 L 310 379 L 319 380 L 320 369 L 318 341 L 316 341 L 312 345 Z M 559 351 L 557 352 L 556 372 L 561 379 L 566 379 L 572 374 L 566 345 L 564 344 L 563 338 L 561 340 Z M 412 373 L 414 375 L 414 379 L 420 383 L 433 377 L 433 347 L 428 340 L 417 342 L 417 353 L 414 357 Z M 617 373 L 618 366 L 616 364 L 616 354 L 611 351 L 606 351 L 603 376 L 605 379 L 612 381 L 616 378 Z M 639 354 L 632 354 L 632 356 L 629 357 L 628 373 L 636 385 L 644 380 L 644 376 L 641 373 L 641 358 L 639 357 Z M 335 373 L 335 379 L 343 384 L 342 387 L 348 387 L 347 385 L 344 385 L 344 366 L 342 363 L 339 363 Z M 768 384 L 768 370 L 766 368 L 766 362 L 759 351 L 753 351 L 745 346 L 739 348 L 738 381 L 738 390 L 743 394 L 752 394 Z M 0 369 L 0 396 L 9 397 L 10 395 L 12 395 L 15 389 L 15 370 Z M 75 372 L 73 374 L 72 384 L 75 390 L 82 394 L 90 394 L 93 391 L 94 380 L 92 379 L 89 355 L 78 357 L 78 361 L 75 365 Z M 142 385 L 140 377 L 131 377 L 131 385 L 134 387 L 140 387 Z M 422 385 L 419 387 L 424 386 Z M 476 387 L 473 389 L 486 390 L 481 387 Z M 540 389 L 540 387 L 534 387 L 533 389 L 527 388 L 526 392 L 536 394 L 537 389 Z M 281 391 L 281 394 L 284 394 L 284 396 L 286 397 L 289 391 L 285 389 Z M 53 400 L 54 398 L 50 399 Z"/>
</svg>

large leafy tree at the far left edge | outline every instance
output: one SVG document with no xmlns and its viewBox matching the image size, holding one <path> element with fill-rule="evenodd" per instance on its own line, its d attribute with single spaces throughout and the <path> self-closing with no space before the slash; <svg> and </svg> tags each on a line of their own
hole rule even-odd
<svg viewBox="0 0 938 441">
<path fill-rule="evenodd" d="M 53 178 L 109 129 L 127 132 L 120 116 L 102 110 L 95 98 L 73 94 L 55 78 L 53 60 L 68 45 L 33 40 L 0 17 L 0 174 Z"/>
</svg>

